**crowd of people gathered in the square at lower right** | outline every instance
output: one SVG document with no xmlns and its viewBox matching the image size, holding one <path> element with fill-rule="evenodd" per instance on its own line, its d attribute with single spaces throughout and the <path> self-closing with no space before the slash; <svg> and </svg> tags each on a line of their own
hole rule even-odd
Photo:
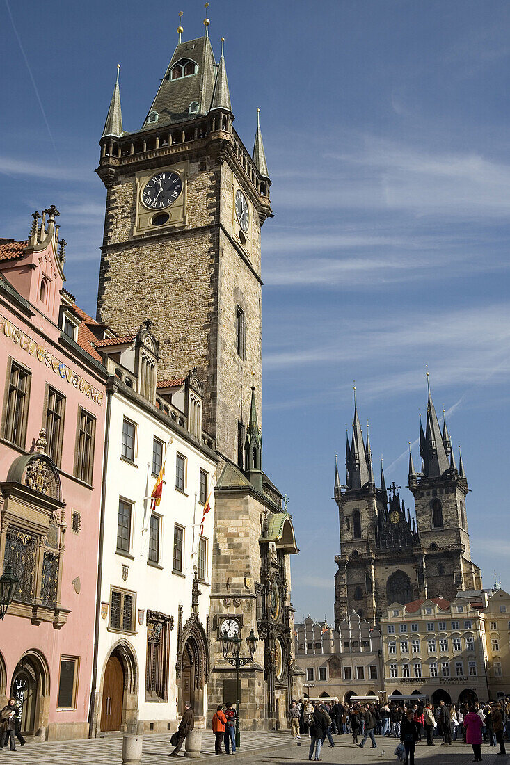
<svg viewBox="0 0 510 765">
<path fill-rule="evenodd" d="M 361 748 L 370 739 L 372 749 L 378 747 L 376 735 L 396 738 L 405 765 L 414 765 L 414 751 L 421 741 L 430 747 L 465 741 L 472 746 L 474 761 L 481 762 L 483 743 L 499 746 L 500 754 L 505 754 L 505 738 L 510 740 L 510 698 L 472 705 L 440 701 L 436 707 L 410 699 L 348 705 L 300 698 L 290 705 L 288 719 L 294 738 L 309 736 L 309 760 L 321 759 L 326 738 L 330 747 L 335 746 L 333 735 L 351 734 L 353 745 Z"/>
</svg>

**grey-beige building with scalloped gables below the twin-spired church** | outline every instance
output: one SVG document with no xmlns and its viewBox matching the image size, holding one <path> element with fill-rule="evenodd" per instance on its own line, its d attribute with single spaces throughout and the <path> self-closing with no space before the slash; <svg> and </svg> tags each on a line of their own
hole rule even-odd
<svg viewBox="0 0 510 765">
<path fill-rule="evenodd" d="M 330 696 L 348 702 L 351 696 L 380 698 L 384 685 L 381 632 L 351 614 L 334 630 L 307 617 L 296 624 L 296 661 L 305 672 L 310 698 Z"/>
</svg>

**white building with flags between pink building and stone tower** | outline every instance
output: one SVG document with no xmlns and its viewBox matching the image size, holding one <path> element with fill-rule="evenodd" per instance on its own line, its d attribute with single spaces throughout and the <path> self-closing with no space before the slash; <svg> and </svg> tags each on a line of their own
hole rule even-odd
<svg viewBox="0 0 510 765">
<path fill-rule="evenodd" d="M 157 382 L 149 322 L 96 343 L 107 383 L 91 722 L 101 731 L 175 729 L 183 702 L 207 714 L 211 543 L 217 467 L 193 373 Z M 164 463 L 159 506 L 150 495 Z M 201 522 L 204 518 L 203 529 Z"/>
</svg>

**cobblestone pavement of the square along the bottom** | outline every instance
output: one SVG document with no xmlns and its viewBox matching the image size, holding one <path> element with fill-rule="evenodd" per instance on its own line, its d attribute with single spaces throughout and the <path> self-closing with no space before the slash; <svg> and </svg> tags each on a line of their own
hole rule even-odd
<svg viewBox="0 0 510 765">
<path fill-rule="evenodd" d="M 363 763 L 381 763 L 398 765 L 394 756 L 397 740 L 377 737 L 378 748 L 372 750 L 368 742 L 364 749 L 351 743 L 351 736 L 335 736 L 335 747 L 325 747 L 321 759 L 335 765 L 363 765 Z M 243 763 L 246 765 L 293 765 L 308 762 L 309 738 L 302 737 L 301 746 L 288 733 L 257 733 L 243 731 L 241 734 Z M 142 765 L 165 765 L 169 763 L 168 754 L 172 751 L 170 734 L 145 736 L 143 741 Z M 510 743 L 508 743 L 510 751 Z M 121 765 L 122 737 L 84 739 L 80 741 L 51 741 L 45 744 L 28 742 L 18 748 L 16 753 L 2 751 L 2 759 L 14 757 L 21 765 Z M 247 754 L 250 753 L 250 754 Z M 181 755 L 184 755 L 184 750 Z M 214 736 L 211 731 L 204 731 L 202 757 L 214 757 Z M 508 765 L 510 756 L 498 754 L 497 747 L 482 745 L 482 757 L 485 765 Z M 239 758 L 237 758 L 239 759 Z M 437 741 L 431 748 L 418 744 L 415 760 L 419 765 L 468 765 L 472 763 L 472 750 L 467 744 L 453 742 L 450 747 L 441 746 Z"/>
</svg>

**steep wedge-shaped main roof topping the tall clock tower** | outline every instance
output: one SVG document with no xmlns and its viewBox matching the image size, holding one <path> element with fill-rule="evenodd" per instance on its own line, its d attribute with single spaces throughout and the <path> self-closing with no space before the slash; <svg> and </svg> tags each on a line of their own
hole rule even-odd
<svg viewBox="0 0 510 765">
<path fill-rule="evenodd" d="M 195 64 L 195 73 L 172 79 L 175 64 L 187 61 Z M 182 66 L 184 67 L 185 63 Z M 142 125 L 142 130 L 152 129 L 155 125 L 176 125 L 178 122 L 207 114 L 215 80 L 216 63 L 209 37 L 204 35 L 196 40 L 179 43 Z M 198 106 L 194 106 L 195 104 Z M 152 112 L 157 113 L 157 122 L 149 122 L 149 115 Z"/>
</svg>

